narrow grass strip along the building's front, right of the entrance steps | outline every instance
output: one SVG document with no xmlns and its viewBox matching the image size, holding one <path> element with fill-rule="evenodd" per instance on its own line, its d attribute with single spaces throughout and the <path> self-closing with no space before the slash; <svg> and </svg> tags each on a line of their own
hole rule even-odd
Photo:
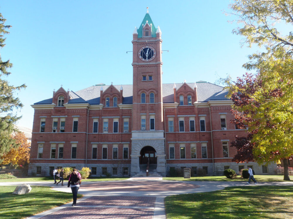
<svg viewBox="0 0 293 219">
<path fill-rule="evenodd" d="M 258 182 L 284 182 L 283 175 L 255 175 L 254 178 Z M 293 176 L 291 176 L 293 179 Z M 195 176 L 188 178 L 183 177 L 164 177 L 163 180 L 182 180 L 182 181 L 224 181 L 224 182 L 231 182 L 231 181 L 248 181 L 248 179 L 240 178 L 237 176 L 234 179 L 228 179 L 226 176 Z M 1 180 L 0 180 L 1 182 Z"/>
</svg>

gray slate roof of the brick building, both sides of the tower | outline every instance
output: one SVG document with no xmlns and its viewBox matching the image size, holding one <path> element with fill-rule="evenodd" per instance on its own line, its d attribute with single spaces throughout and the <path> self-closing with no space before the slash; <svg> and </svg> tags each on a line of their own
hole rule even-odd
<svg viewBox="0 0 293 219">
<path fill-rule="evenodd" d="M 194 87 L 194 83 L 186 83 L 192 89 Z M 182 83 L 176 84 L 177 90 L 182 86 Z M 100 88 L 102 87 L 105 91 L 110 85 L 102 85 L 102 86 L 91 86 L 80 91 L 70 91 L 69 94 L 71 99 L 70 103 L 89 103 L 91 105 L 100 104 Z M 132 104 L 132 85 L 113 85 L 120 91 L 120 87 L 123 88 L 123 104 Z M 163 86 L 163 102 L 164 103 L 173 103 L 174 102 L 174 84 L 162 84 Z M 222 86 L 218 86 L 216 84 L 211 84 L 205 81 L 196 82 L 197 86 L 197 102 L 207 102 L 209 100 L 227 100 L 225 95 L 226 91 L 223 91 Z M 52 98 L 47 100 L 42 100 L 40 102 L 34 103 L 37 104 L 51 104 Z"/>
</svg>

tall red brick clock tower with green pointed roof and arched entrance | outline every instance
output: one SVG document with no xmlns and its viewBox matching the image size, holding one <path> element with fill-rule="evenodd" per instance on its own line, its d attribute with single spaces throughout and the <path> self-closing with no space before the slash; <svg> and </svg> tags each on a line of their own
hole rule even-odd
<svg viewBox="0 0 293 219">
<path fill-rule="evenodd" d="M 139 173 L 148 159 L 158 173 L 166 175 L 161 43 L 160 27 L 155 27 L 147 11 L 132 40 L 131 175 Z"/>
</svg>

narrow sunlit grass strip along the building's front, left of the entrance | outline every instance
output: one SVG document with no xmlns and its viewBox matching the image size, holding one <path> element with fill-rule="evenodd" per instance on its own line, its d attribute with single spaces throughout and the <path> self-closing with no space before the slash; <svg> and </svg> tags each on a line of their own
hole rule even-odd
<svg viewBox="0 0 293 219">
<path fill-rule="evenodd" d="M 126 180 L 129 179 L 129 177 L 91 177 L 88 179 L 81 180 L 82 182 L 92 182 L 92 181 L 114 181 L 114 180 Z M 59 181 L 59 178 L 56 178 L 57 182 Z M 28 178 L 14 178 L 14 179 L 3 179 L 0 180 L 0 183 L 7 183 L 7 182 L 48 182 L 52 181 L 54 183 L 54 179 L 52 176 L 48 177 L 28 177 Z M 68 178 L 64 179 L 64 182 L 68 182 Z"/>
</svg>

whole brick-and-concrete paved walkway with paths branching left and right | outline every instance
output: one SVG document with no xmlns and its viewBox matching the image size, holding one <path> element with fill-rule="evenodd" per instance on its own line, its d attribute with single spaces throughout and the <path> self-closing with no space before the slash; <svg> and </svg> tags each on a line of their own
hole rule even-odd
<svg viewBox="0 0 293 219">
<path fill-rule="evenodd" d="M 65 186 L 48 182 L 25 182 L 30 185 L 50 186 L 56 191 L 70 192 Z M 21 185 L 22 183 L 0 183 Z M 260 182 L 256 185 L 293 185 L 293 182 Z M 34 215 L 43 218 L 166 218 L 164 198 L 170 195 L 222 190 L 231 186 L 254 186 L 246 182 L 163 181 L 159 178 L 130 178 L 123 181 L 83 182 L 75 207 L 65 204 Z"/>
</svg>

